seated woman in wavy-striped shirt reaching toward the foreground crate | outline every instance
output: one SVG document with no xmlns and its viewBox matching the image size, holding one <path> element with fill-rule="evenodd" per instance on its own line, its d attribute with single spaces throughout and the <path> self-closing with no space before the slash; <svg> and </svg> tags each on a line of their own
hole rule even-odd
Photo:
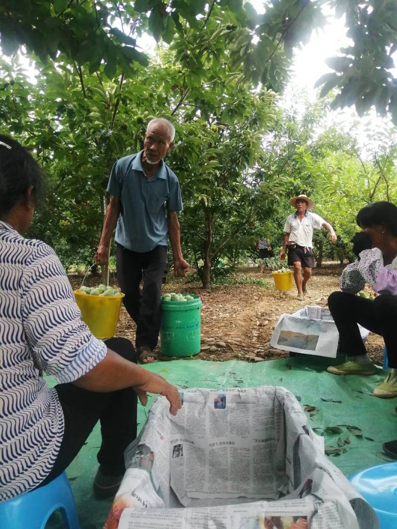
<svg viewBox="0 0 397 529">
<path fill-rule="evenodd" d="M 97 497 L 113 496 L 123 452 L 137 434 L 137 396 L 178 390 L 136 364 L 132 343 L 105 343 L 80 318 L 68 278 L 47 244 L 25 239 L 42 195 L 41 170 L 0 135 L 0 501 L 48 484 L 76 457 L 98 419 Z M 59 384 L 49 388 L 42 373 Z"/>
</svg>

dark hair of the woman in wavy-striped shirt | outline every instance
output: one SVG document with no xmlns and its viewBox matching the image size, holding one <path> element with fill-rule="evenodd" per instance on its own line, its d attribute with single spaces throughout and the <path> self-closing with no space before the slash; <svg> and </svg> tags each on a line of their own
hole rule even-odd
<svg viewBox="0 0 397 529">
<path fill-rule="evenodd" d="M 32 205 L 43 197 L 43 174 L 37 161 L 20 143 L 0 134 L 0 218 L 4 217 L 32 186 Z"/>
</svg>

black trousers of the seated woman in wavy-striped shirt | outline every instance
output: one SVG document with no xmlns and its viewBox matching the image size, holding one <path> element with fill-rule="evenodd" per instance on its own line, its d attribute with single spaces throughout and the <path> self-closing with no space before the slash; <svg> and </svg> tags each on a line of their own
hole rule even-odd
<svg viewBox="0 0 397 529">
<path fill-rule="evenodd" d="M 105 340 L 109 349 L 137 363 L 134 346 L 126 338 Z M 120 476 L 125 472 L 124 450 L 137 437 L 137 394 L 132 388 L 98 393 L 74 384 L 55 386 L 65 417 L 65 432 L 51 472 L 39 487 L 57 478 L 76 455 L 101 421 L 102 444 L 97 454 L 105 475 Z"/>
</svg>

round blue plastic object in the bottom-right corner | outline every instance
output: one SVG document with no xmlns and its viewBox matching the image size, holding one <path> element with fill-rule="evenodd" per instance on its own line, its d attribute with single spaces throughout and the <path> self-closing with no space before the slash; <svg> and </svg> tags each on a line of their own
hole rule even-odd
<svg viewBox="0 0 397 529">
<path fill-rule="evenodd" d="M 357 472 L 349 478 L 365 501 L 375 510 L 381 529 L 397 527 L 397 462 Z"/>
</svg>

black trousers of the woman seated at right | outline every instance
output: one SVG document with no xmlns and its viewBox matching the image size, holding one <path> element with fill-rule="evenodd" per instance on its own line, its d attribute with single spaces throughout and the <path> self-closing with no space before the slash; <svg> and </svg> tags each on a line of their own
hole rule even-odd
<svg viewBox="0 0 397 529">
<path fill-rule="evenodd" d="M 358 323 L 383 336 L 387 349 L 387 363 L 397 368 L 397 296 L 382 294 L 374 300 L 332 292 L 328 308 L 339 331 L 339 350 L 347 356 L 365 354 L 367 351 L 360 336 Z"/>
</svg>

